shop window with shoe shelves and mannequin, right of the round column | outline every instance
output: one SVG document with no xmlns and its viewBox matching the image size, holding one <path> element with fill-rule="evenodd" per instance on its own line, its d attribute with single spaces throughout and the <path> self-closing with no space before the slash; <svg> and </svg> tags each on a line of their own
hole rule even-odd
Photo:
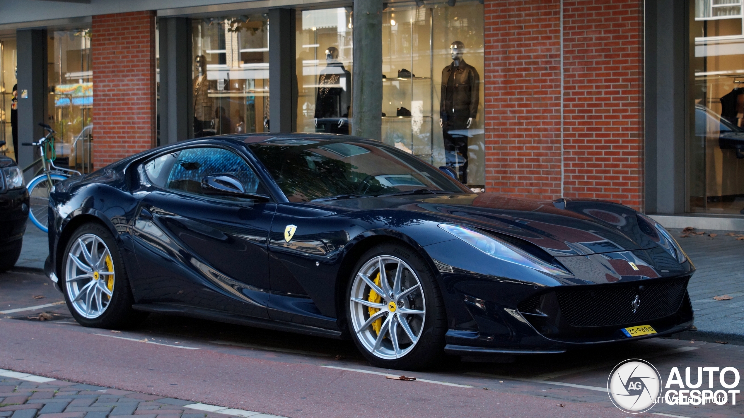
<svg viewBox="0 0 744 418">
<path fill-rule="evenodd" d="M 428 4 L 382 17 L 382 141 L 472 188 L 485 184 L 484 8 Z"/>
</svg>

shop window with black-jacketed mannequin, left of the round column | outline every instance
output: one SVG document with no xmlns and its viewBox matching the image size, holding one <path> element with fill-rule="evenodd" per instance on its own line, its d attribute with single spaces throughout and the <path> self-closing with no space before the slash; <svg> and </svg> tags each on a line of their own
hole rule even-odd
<svg viewBox="0 0 744 418">
<path fill-rule="evenodd" d="M 350 133 L 351 8 L 298 10 L 298 132 Z"/>
</svg>

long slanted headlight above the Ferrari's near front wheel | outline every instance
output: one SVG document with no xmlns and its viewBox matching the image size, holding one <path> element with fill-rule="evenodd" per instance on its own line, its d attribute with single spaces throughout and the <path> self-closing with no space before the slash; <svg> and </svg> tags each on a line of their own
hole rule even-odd
<svg viewBox="0 0 744 418">
<path fill-rule="evenodd" d="M 532 254 L 522 250 L 522 248 L 517 248 L 508 242 L 481 234 L 480 232 L 467 228 L 464 225 L 439 224 L 439 228 L 442 228 L 444 231 L 449 232 L 449 234 L 462 239 L 491 257 L 498 258 L 498 260 L 519 264 L 519 266 L 529 267 L 530 269 L 543 271 L 548 274 L 555 274 L 557 276 L 574 275 L 570 271 L 566 271 L 558 266 L 553 266 L 550 263 L 540 260 Z"/>
</svg>

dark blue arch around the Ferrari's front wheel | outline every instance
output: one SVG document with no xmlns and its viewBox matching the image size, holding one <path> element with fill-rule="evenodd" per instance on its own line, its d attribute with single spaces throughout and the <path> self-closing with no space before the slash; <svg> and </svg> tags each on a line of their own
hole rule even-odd
<svg viewBox="0 0 744 418">
<path fill-rule="evenodd" d="M 344 257 L 341 260 L 341 265 L 336 273 L 336 291 L 334 292 L 336 299 L 336 318 L 337 323 L 339 324 L 339 329 L 344 332 L 344 338 L 350 338 L 347 327 L 348 321 L 345 298 L 346 288 L 349 280 L 351 280 L 351 273 L 353 272 L 354 265 L 359 261 L 359 257 L 362 257 L 362 254 L 365 254 L 365 252 L 370 248 L 382 244 L 383 242 L 402 244 L 410 248 L 411 251 L 419 254 L 424 260 L 426 260 L 429 269 L 432 269 L 434 277 L 439 281 L 439 274 L 436 266 L 434 266 L 432 257 L 429 257 L 429 254 L 426 253 L 423 247 L 421 247 L 421 245 L 419 245 L 414 239 L 411 239 L 411 237 L 392 230 L 367 231 L 364 234 L 360 234 L 346 245 Z"/>
</svg>

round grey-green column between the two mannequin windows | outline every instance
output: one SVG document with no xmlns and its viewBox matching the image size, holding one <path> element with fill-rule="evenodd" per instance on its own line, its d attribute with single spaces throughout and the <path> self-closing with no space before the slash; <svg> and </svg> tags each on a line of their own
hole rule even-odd
<svg viewBox="0 0 744 418">
<path fill-rule="evenodd" d="M 352 135 L 382 138 L 382 0 L 354 0 Z"/>
</svg>

